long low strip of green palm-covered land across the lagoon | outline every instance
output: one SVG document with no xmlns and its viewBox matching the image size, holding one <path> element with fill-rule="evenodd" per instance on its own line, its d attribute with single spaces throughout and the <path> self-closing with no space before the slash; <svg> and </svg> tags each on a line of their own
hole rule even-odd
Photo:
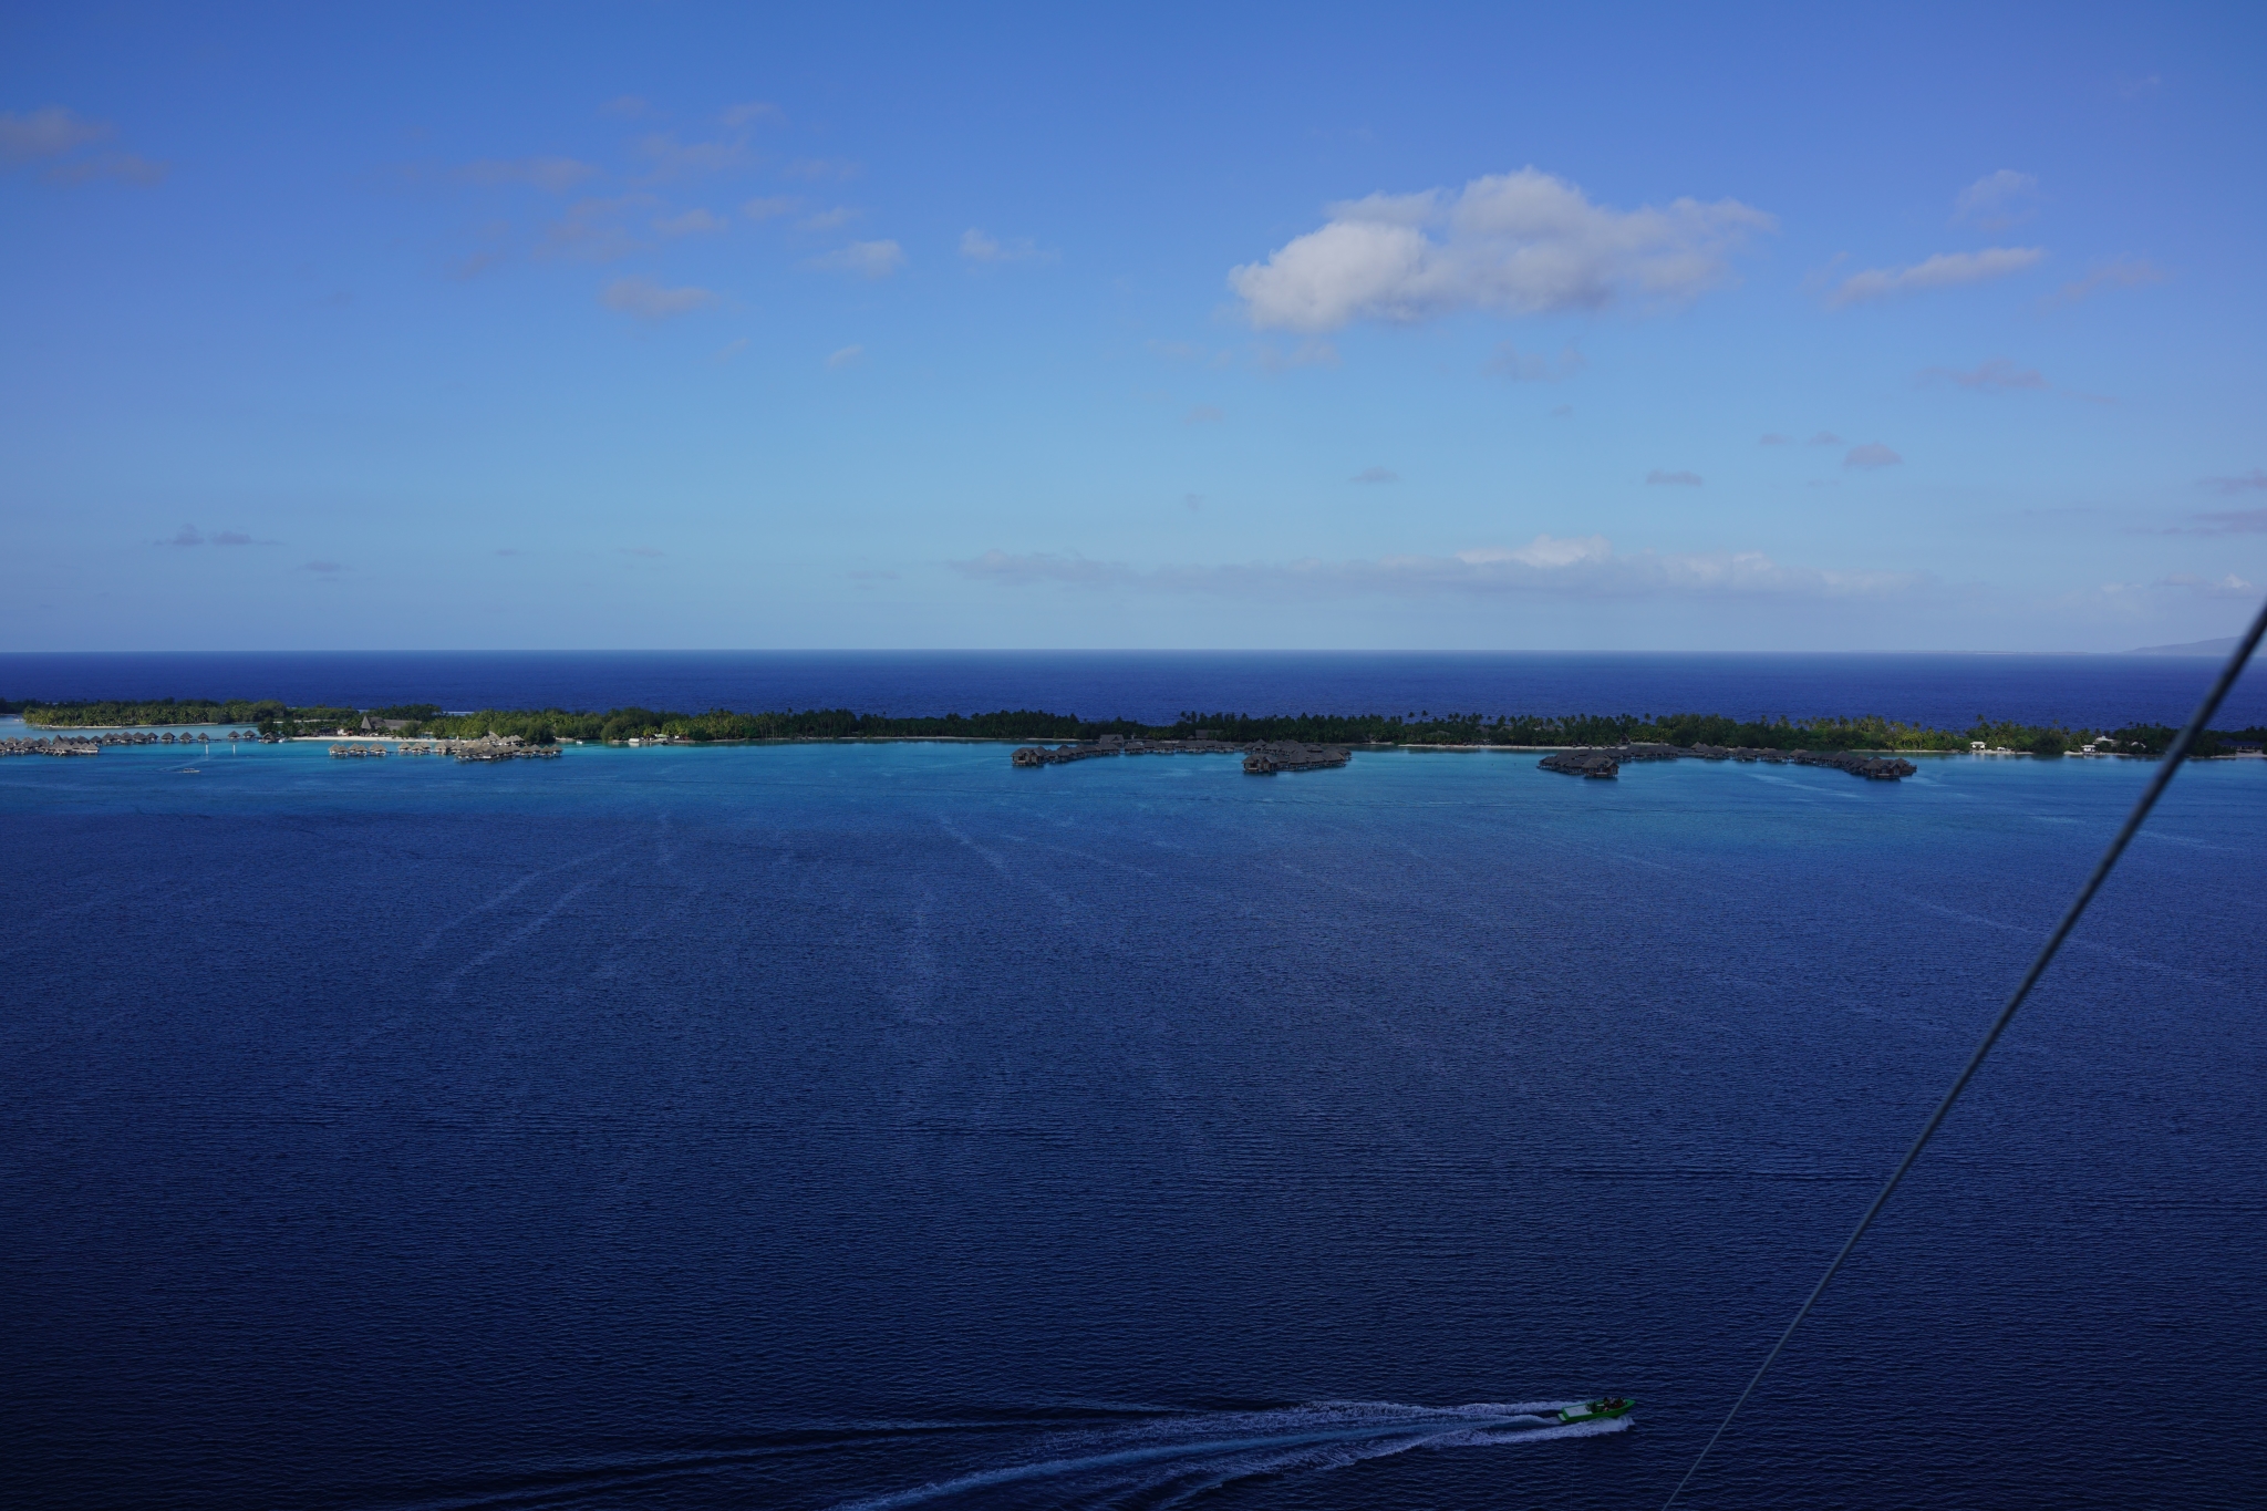
<svg viewBox="0 0 2267 1511">
<path fill-rule="evenodd" d="M 1761 750 L 1968 750 L 1970 741 L 1993 748 L 2063 754 L 2086 743 L 2092 732 L 2040 725 L 2018 725 L 1977 718 L 1970 729 L 1925 729 L 1888 718 L 1805 718 L 1805 720 L 1737 720 L 1721 714 L 1576 714 L 1562 718 L 1435 714 L 1181 714 L 1172 725 L 1140 725 L 1127 718 L 1086 720 L 1072 714 L 1038 709 L 1000 709 L 997 714 L 945 714 L 929 718 L 889 718 L 850 709 L 787 709 L 773 714 L 676 714 L 669 709 L 608 709 L 605 714 L 571 709 L 481 709 L 476 714 L 442 714 L 440 705 L 404 702 L 385 709 L 286 707 L 277 700 L 204 700 L 159 698 L 152 702 L 0 702 L 0 711 L 20 709 L 43 727 L 102 725 L 252 725 L 263 734 L 333 734 L 360 729 L 367 720 L 399 725 L 401 736 L 476 739 L 483 734 L 517 734 L 535 745 L 553 741 L 630 741 L 685 739 L 712 741 L 857 741 L 857 739 L 977 739 L 977 741 L 1079 741 L 1102 734 L 1190 739 L 1206 734 L 1222 741 L 1315 741 L 1326 745 L 1619 745 L 1621 741 L 1659 741 L 1666 745 L 1748 745 Z M 2126 725 L 2113 729 L 2117 748 L 2133 754 L 2163 754 L 2179 734 L 2165 725 Z M 2267 729 L 2215 732 L 2197 754 L 2222 754 L 2235 743 L 2260 745 Z"/>
</svg>

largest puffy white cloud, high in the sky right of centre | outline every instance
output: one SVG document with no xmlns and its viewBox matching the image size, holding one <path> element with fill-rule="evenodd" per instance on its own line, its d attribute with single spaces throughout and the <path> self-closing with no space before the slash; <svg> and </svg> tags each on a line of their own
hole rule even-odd
<svg viewBox="0 0 2267 1511">
<path fill-rule="evenodd" d="M 1229 270 L 1258 328 L 1338 331 L 1455 310 L 1544 315 L 1637 297 L 1691 299 L 1732 276 L 1730 251 L 1777 222 L 1737 199 L 1614 211 L 1521 168 L 1460 193 L 1369 195 L 1265 263 Z"/>
</svg>

